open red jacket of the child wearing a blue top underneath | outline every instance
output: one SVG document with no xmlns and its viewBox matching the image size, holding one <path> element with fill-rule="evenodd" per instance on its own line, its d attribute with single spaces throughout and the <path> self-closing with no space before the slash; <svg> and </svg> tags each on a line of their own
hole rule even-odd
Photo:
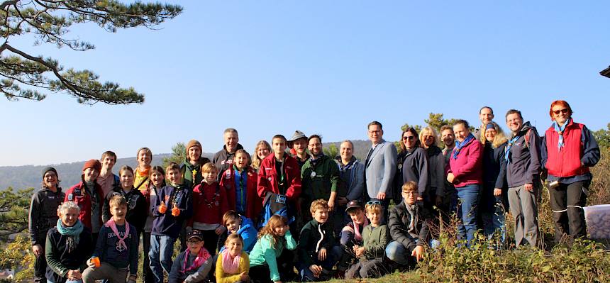
<svg viewBox="0 0 610 283">
<path fill-rule="evenodd" d="M 257 181 L 258 176 L 256 172 L 254 172 L 252 167 L 248 167 L 248 178 L 245 181 L 245 199 L 246 199 L 246 207 L 245 207 L 245 217 L 250 218 L 255 221 L 255 218 L 258 217 L 260 211 L 262 211 L 262 198 L 257 194 Z M 221 176 L 221 187 L 226 189 L 227 194 L 227 202 L 229 209 L 235 210 L 236 208 L 236 187 L 235 187 L 235 169 L 233 166 L 229 167 L 228 170 L 225 170 Z"/>
</svg>

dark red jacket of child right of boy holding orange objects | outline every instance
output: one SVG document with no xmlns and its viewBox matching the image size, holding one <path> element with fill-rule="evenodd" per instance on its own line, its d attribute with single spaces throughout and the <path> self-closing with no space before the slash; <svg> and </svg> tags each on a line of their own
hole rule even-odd
<svg viewBox="0 0 610 283">
<path fill-rule="evenodd" d="M 222 225 L 223 214 L 228 210 L 225 189 L 218 182 L 201 182 L 193 189 L 193 217 L 187 226 L 192 227 L 194 222 Z"/>
</svg>

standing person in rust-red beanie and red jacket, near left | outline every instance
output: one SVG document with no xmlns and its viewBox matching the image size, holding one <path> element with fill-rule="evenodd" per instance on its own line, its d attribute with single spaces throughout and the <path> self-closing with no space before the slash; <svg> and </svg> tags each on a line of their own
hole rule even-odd
<svg viewBox="0 0 610 283">
<path fill-rule="evenodd" d="M 99 160 L 89 160 L 82 167 L 82 181 L 67 190 L 64 201 L 74 201 L 80 207 L 78 218 L 83 225 L 91 229 L 93 242 L 97 242 L 101 221 L 101 209 L 104 192 L 96 179 L 101 170 Z"/>
</svg>

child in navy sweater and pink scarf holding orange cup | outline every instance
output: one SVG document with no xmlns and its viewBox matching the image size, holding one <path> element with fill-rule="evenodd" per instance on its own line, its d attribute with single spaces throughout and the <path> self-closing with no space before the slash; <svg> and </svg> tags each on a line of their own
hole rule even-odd
<svg viewBox="0 0 610 283">
<path fill-rule="evenodd" d="M 84 283 L 108 279 L 110 283 L 135 283 L 138 274 L 138 233 L 127 223 L 127 200 L 113 196 L 109 201 L 112 218 L 99 231 L 93 256 L 87 260 L 87 270 L 82 273 Z"/>
</svg>

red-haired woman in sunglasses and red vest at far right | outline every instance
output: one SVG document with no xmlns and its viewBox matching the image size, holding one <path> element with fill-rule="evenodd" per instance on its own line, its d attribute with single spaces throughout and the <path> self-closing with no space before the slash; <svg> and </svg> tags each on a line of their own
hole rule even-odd
<svg viewBox="0 0 610 283">
<path fill-rule="evenodd" d="M 586 238 L 582 206 L 592 174 L 589 167 L 599 161 L 599 146 L 584 124 L 572 119 L 572 108 L 566 101 L 550 104 L 553 124 L 546 130 L 540 146 L 541 165 L 548 170 L 550 208 L 555 222 L 555 243 L 563 237 Z"/>
</svg>

